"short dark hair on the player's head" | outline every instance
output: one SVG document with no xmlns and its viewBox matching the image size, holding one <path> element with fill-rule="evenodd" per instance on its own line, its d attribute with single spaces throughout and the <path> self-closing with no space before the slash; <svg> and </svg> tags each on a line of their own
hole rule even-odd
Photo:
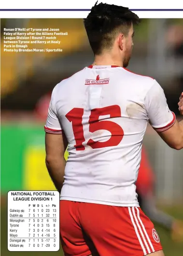
<svg viewBox="0 0 183 256">
<path fill-rule="evenodd" d="M 111 48 L 117 33 L 127 35 L 131 25 L 140 22 L 139 17 L 127 7 L 97 3 L 84 18 L 84 27 L 95 55 L 101 54 L 104 48 Z"/>
</svg>

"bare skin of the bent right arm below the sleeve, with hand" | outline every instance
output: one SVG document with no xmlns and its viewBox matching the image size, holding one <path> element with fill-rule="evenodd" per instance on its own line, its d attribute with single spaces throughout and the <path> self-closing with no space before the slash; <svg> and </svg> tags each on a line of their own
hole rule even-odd
<svg viewBox="0 0 183 256">
<path fill-rule="evenodd" d="M 183 115 L 183 93 L 179 98 L 179 111 Z M 183 148 L 183 120 L 178 122 L 166 131 L 158 132 L 160 137 L 172 148 L 180 150 Z"/>
</svg>

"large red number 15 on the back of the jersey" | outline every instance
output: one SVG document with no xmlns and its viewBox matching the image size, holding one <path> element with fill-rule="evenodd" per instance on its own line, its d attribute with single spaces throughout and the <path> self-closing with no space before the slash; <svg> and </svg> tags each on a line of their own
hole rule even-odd
<svg viewBox="0 0 183 256">
<path fill-rule="evenodd" d="M 76 144 L 74 147 L 76 150 L 84 150 L 83 142 L 84 139 L 84 131 L 83 131 L 83 114 L 84 109 L 74 108 L 69 113 L 66 114 L 66 118 L 72 122 L 72 129 L 74 133 L 74 138 Z M 116 146 L 118 145 L 124 136 L 124 131 L 118 124 L 113 121 L 99 121 L 99 116 L 101 115 L 110 115 L 113 117 L 121 117 L 121 109 L 118 105 L 113 105 L 105 108 L 98 108 L 91 110 L 91 114 L 89 117 L 89 131 L 94 132 L 98 130 L 108 130 L 111 132 L 111 138 L 106 142 L 95 142 L 92 139 L 89 139 L 87 145 L 92 148 L 101 148 L 108 146 Z"/>
</svg>

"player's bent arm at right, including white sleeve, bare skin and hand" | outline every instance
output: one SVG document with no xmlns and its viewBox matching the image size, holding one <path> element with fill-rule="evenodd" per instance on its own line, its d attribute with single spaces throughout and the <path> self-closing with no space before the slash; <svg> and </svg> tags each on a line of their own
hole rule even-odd
<svg viewBox="0 0 183 256">
<path fill-rule="evenodd" d="M 180 97 L 179 111 L 183 115 L 183 94 Z M 174 113 L 169 111 L 167 99 L 161 86 L 155 81 L 147 93 L 145 106 L 149 122 L 159 136 L 172 148 L 183 148 L 183 120 L 178 122 Z"/>
</svg>

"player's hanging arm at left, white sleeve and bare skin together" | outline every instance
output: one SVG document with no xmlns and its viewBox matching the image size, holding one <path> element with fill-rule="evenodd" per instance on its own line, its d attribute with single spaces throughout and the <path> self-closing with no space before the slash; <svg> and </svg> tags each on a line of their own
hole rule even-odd
<svg viewBox="0 0 183 256">
<path fill-rule="evenodd" d="M 60 192 L 64 182 L 64 170 L 66 161 L 64 153 L 68 142 L 61 126 L 60 120 L 56 113 L 56 87 L 52 92 L 48 117 L 44 130 L 45 134 L 45 149 L 46 149 L 46 167 L 49 175 L 53 180 L 56 189 Z"/>
</svg>

